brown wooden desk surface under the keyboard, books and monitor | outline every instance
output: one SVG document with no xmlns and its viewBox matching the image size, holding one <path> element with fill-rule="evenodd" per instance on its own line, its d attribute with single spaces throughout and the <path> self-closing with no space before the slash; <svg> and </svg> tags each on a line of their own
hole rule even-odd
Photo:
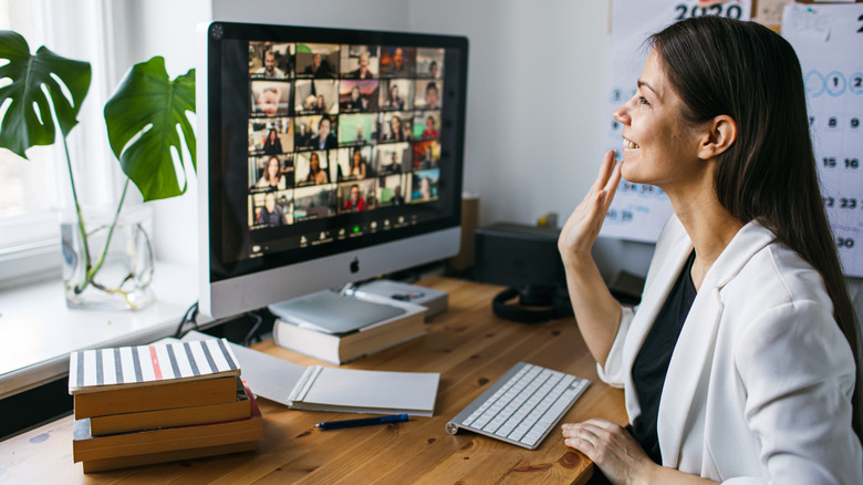
<svg viewBox="0 0 863 485">
<path fill-rule="evenodd" d="M 256 452 L 84 475 L 72 462 L 72 417 L 0 443 L 0 483 L 576 483 L 592 464 L 552 431 L 536 451 L 444 426 L 512 364 L 526 361 L 593 383 L 563 422 L 593 416 L 626 421 L 623 392 L 596 378 L 593 359 L 572 319 L 524 326 L 496 318 L 500 287 L 428 278 L 449 292 L 449 310 L 434 317 L 428 334 L 345 365 L 352 369 L 439 372 L 434 417 L 405 423 L 319 431 L 314 423 L 356 417 L 292 411 L 261 399 L 263 440 Z M 258 350 L 310 365 L 320 361 L 272 341 Z"/>
</svg>

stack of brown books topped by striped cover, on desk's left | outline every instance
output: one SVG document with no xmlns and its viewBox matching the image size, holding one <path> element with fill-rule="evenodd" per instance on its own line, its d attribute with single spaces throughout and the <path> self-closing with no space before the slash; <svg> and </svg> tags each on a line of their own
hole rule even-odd
<svg viewBox="0 0 863 485">
<path fill-rule="evenodd" d="M 263 435 L 223 339 L 73 352 L 69 393 L 84 473 L 250 451 Z"/>
</svg>

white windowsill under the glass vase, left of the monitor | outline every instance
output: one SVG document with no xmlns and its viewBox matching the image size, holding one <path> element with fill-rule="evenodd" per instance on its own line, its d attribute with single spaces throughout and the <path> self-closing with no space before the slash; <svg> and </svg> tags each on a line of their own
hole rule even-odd
<svg viewBox="0 0 863 485">
<path fill-rule="evenodd" d="M 63 283 L 0 291 L 0 399 L 67 375 L 69 353 L 173 336 L 198 299 L 197 269 L 156 262 L 156 302 L 137 310 L 66 308 Z"/>
</svg>

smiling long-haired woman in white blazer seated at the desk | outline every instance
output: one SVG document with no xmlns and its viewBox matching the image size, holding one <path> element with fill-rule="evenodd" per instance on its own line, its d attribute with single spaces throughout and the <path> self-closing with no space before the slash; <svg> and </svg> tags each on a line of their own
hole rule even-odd
<svg viewBox="0 0 863 485">
<path fill-rule="evenodd" d="M 863 483 L 854 311 L 797 56 L 716 17 L 651 43 L 614 113 L 623 162 L 606 154 L 559 239 L 579 328 L 600 376 L 624 388 L 632 432 L 568 423 L 565 443 L 613 483 Z M 675 211 L 635 313 L 590 254 L 621 177 L 659 186 Z"/>
</svg>

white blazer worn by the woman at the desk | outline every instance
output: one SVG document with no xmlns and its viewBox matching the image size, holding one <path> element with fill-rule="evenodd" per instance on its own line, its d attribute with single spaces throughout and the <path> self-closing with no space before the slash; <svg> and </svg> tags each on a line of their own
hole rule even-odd
<svg viewBox="0 0 863 485">
<path fill-rule="evenodd" d="M 708 270 L 659 402 L 663 465 L 728 484 L 863 484 L 851 427 L 855 368 L 820 275 L 747 224 Z M 632 367 L 693 244 L 666 224 L 636 312 L 624 308 L 600 378 L 640 414 Z"/>
</svg>

